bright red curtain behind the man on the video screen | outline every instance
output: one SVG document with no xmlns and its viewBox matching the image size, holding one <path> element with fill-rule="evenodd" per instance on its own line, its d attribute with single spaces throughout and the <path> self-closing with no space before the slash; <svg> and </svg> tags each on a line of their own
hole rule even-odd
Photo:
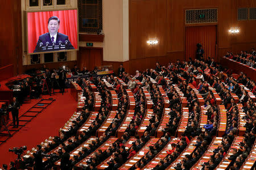
<svg viewBox="0 0 256 170">
<path fill-rule="evenodd" d="M 48 32 L 48 19 L 57 16 L 60 19 L 59 32 L 68 36 L 69 41 L 77 49 L 77 10 L 28 12 L 28 53 L 33 53 L 38 38 Z"/>
</svg>

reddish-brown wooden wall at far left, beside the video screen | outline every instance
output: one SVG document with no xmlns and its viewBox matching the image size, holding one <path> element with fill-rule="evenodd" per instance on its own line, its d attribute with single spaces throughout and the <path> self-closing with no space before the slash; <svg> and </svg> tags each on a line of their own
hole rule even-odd
<svg viewBox="0 0 256 170">
<path fill-rule="evenodd" d="M 16 75 L 22 72 L 21 1 L 2 1 L 0 15 L 0 67 L 13 64 Z"/>
</svg>

